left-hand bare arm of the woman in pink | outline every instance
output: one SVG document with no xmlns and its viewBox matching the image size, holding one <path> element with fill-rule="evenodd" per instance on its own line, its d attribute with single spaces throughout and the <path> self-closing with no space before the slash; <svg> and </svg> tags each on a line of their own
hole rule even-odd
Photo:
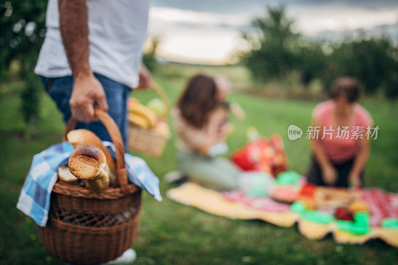
<svg viewBox="0 0 398 265">
<path fill-rule="evenodd" d="M 312 126 L 320 126 L 318 122 L 315 120 L 312 121 Z M 322 171 L 322 178 L 325 183 L 331 185 L 336 182 L 337 179 L 337 172 L 334 169 L 330 159 L 327 157 L 323 147 L 320 143 L 320 139 L 311 139 L 310 141 L 310 148 L 312 154 L 314 155 L 316 161 L 318 162 L 321 171 Z"/>
</svg>

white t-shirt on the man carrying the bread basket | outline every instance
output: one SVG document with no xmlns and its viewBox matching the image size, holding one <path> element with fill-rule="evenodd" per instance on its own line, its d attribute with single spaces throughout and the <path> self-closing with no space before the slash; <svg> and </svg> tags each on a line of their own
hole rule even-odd
<svg viewBox="0 0 398 265">
<path fill-rule="evenodd" d="M 149 0 L 86 0 L 90 66 L 130 88 L 138 86 Z M 58 0 L 49 0 L 46 37 L 34 72 L 47 78 L 72 75 L 59 31 Z"/>
</svg>

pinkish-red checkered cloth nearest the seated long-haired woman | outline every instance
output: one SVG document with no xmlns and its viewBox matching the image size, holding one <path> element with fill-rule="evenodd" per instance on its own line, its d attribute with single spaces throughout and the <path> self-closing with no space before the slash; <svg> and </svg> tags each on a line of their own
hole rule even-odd
<svg viewBox="0 0 398 265">
<path fill-rule="evenodd" d="M 239 190 L 222 192 L 225 199 L 233 202 L 242 202 L 245 205 L 269 212 L 284 212 L 290 210 L 290 204 L 282 203 L 271 199 L 270 197 L 248 197 Z"/>
</svg>

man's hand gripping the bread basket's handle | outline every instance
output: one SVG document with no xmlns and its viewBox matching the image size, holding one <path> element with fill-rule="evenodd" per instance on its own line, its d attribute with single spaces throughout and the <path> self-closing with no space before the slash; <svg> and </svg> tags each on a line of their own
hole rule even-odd
<svg viewBox="0 0 398 265">
<path fill-rule="evenodd" d="M 95 103 L 98 108 L 108 111 L 108 103 L 100 81 L 93 74 L 76 77 L 69 99 L 72 117 L 83 122 L 93 121 Z"/>
</svg>

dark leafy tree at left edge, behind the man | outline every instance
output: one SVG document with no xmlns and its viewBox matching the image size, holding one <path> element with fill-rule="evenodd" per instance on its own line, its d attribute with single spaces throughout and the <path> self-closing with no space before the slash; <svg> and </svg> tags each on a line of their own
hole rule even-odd
<svg viewBox="0 0 398 265">
<path fill-rule="evenodd" d="M 26 122 L 38 116 L 38 77 L 33 74 L 37 55 L 45 35 L 47 0 L 0 0 L 0 77 L 12 61 L 20 63 L 19 75 L 26 81 L 21 110 Z"/>
</svg>

